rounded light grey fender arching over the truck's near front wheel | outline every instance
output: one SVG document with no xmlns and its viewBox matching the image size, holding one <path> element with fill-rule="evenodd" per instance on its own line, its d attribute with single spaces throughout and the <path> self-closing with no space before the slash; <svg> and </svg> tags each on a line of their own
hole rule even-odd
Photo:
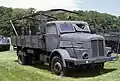
<svg viewBox="0 0 120 81">
<path fill-rule="evenodd" d="M 61 56 L 62 61 L 63 61 L 63 67 L 66 67 L 65 59 L 70 59 L 71 58 L 70 55 L 69 55 L 69 53 L 67 52 L 67 50 L 65 50 L 65 49 L 55 49 L 50 54 L 50 58 L 52 57 L 52 55 L 54 54 L 54 52 L 59 53 L 59 55 Z"/>
</svg>

